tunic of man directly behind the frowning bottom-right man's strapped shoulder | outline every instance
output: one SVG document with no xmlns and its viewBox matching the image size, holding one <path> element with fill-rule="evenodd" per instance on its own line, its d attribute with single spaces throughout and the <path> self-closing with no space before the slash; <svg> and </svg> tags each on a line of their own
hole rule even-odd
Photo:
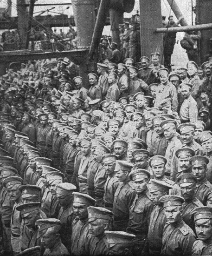
<svg viewBox="0 0 212 256">
<path fill-rule="evenodd" d="M 193 219 L 193 215 L 191 214 L 192 210 L 197 208 L 197 207 L 201 207 L 203 206 L 203 204 L 196 198 L 194 197 L 192 199 L 192 201 L 189 202 L 184 202 L 182 204 L 182 218 L 183 221 L 186 223 L 186 225 L 188 225 L 193 232 L 196 234 L 196 230 L 195 230 L 195 223 L 194 223 L 194 219 Z"/>
</svg>

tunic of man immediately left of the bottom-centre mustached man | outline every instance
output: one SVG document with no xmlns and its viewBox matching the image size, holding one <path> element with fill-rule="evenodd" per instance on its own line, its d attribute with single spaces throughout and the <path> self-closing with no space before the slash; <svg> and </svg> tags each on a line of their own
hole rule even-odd
<svg viewBox="0 0 212 256">
<path fill-rule="evenodd" d="M 71 255 L 87 256 L 85 240 L 88 236 L 88 219 L 74 219 L 72 222 Z"/>
</svg>

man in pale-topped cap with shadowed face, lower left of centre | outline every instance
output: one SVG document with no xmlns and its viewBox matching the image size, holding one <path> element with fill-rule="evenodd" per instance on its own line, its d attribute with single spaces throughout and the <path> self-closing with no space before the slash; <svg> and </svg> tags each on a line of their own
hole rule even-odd
<svg viewBox="0 0 212 256">
<path fill-rule="evenodd" d="M 60 183 L 56 188 L 56 197 L 61 206 L 58 220 L 61 221 L 60 237 L 64 246 L 71 254 L 71 226 L 73 221 L 73 191 L 77 188 L 71 183 Z"/>
</svg>

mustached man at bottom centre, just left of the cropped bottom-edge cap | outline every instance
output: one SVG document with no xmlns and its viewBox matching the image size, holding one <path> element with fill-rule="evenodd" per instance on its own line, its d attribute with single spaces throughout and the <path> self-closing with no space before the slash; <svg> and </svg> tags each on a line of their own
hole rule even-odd
<svg viewBox="0 0 212 256">
<path fill-rule="evenodd" d="M 88 231 L 85 240 L 87 255 L 104 255 L 107 251 L 105 230 L 110 229 L 113 213 L 103 207 L 88 207 Z"/>
</svg>

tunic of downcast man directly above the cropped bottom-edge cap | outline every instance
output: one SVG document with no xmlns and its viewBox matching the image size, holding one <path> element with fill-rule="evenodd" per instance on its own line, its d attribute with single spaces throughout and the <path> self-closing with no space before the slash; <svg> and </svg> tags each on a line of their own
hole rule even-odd
<svg viewBox="0 0 212 256">
<path fill-rule="evenodd" d="M 120 182 L 113 202 L 114 230 L 125 231 L 129 220 L 129 209 L 135 199 L 133 182 Z"/>
</svg>

